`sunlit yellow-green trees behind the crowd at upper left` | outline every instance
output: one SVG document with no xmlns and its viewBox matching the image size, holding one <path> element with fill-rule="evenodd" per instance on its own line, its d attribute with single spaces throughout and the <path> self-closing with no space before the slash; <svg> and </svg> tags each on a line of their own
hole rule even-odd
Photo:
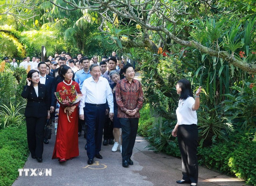
<svg viewBox="0 0 256 186">
<path fill-rule="evenodd" d="M 46 56 L 66 51 L 73 57 L 78 53 L 109 55 L 115 47 L 98 31 L 101 19 L 97 12 L 65 11 L 41 0 L 15 2 L 15 8 L 13 3 L 0 1 L 0 58 L 41 56 L 41 46 Z M 10 14 L 5 14 L 8 10 Z"/>
</svg>

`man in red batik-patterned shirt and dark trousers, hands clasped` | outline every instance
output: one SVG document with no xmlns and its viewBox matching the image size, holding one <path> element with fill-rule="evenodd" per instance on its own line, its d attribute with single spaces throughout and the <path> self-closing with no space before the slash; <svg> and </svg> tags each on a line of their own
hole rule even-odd
<svg viewBox="0 0 256 186">
<path fill-rule="evenodd" d="M 137 135 L 140 112 L 143 105 L 141 83 L 134 79 L 135 71 L 132 65 L 123 67 L 124 79 L 116 84 L 117 117 L 122 125 L 122 165 L 133 165 L 131 156 Z"/>
</svg>

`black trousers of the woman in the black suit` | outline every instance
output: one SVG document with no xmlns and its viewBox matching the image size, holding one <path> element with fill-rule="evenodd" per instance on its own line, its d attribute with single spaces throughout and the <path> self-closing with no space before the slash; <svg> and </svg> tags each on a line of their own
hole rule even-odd
<svg viewBox="0 0 256 186">
<path fill-rule="evenodd" d="M 28 149 L 31 152 L 31 156 L 42 158 L 46 116 L 40 118 L 26 117 L 26 123 Z"/>
</svg>

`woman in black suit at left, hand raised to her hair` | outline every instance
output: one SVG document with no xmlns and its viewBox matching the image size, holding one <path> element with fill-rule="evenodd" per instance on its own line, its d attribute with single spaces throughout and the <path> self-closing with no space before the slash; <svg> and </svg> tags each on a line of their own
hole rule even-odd
<svg viewBox="0 0 256 186">
<path fill-rule="evenodd" d="M 39 80 L 38 71 L 30 70 L 26 79 L 27 85 L 24 86 L 21 96 L 27 98 L 25 117 L 28 149 L 32 158 L 41 162 L 46 119 L 50 118 L 50 94 Z"/>
</svg>

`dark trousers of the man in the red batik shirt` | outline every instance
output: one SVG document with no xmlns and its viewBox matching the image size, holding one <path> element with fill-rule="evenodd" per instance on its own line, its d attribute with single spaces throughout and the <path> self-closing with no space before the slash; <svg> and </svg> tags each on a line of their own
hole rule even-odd
<svg viewBox="0 0 256 186">
<path fill-rule="evenodd" d="M 127 160 L 133 154 L 139 118 L 120 118 L 120 123 L 122 125 L 122 159 Z"/>
</svg>

